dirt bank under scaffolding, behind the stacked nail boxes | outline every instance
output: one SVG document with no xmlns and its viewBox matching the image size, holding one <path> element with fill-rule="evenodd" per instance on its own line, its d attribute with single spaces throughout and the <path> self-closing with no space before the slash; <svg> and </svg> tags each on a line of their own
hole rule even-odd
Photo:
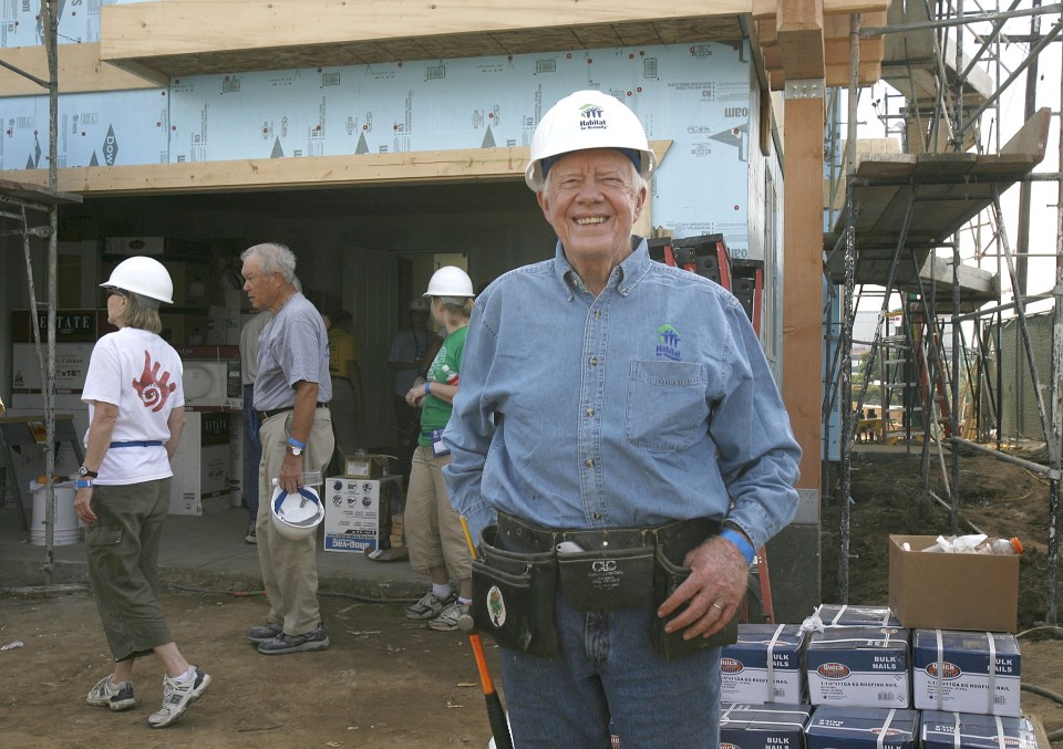
<svg viewBox="0 0 1063 749">
<path fill-rule="evenodd" d="M 915 448 L 918 456 L 919 448 Z M 1026 456 L 1033 459 L 1035 456 Z M 949 467 L 949 457 L 946 456 Z M 1063 631 L 1045 626 L 1047 596 L 1047 541 L 1050 527 L 1049 482 L 1021 466 L 981 454 L 960 455 L 960 533 L 977 532 L 972 523 L 989 535 L 1022 540 L 1024 552 L 1019 565 L 1019 645 L 1022 654 L 1022 683 L 1063 695 Z M 890 533 L 951 535 L 949 511 L 923 490 L 918 457 L 873 462 L 854 462 L 849 496 L 849 596 L 847 603 L 888 604 Z M 836 477 L 837 478 L 837 477 Z M 948 497 L 936 456 L 929 472 L 929 486 L 938 497 Z M 835 485 L 837 489 L 837 483 Z M 838 539 L 840 502 L 824 497 L 822 594 L 827 603 L 838 597 Z M 966 521 L 966 522 L 964 522 Z M 1057 616 L 1063 600 L 1056 585 Z M 978 581 L 971 581 L 971 595 L 978 595 Z M 1063 729 L 1063 706 L 1024 690 L 1023 710 L 1036 714 L 1051 734 Z M 1063 732 L 1063 731 L 1061 731 Z M 1063 747 L 1063 737 L 1053 741 Z"/>
</svg>

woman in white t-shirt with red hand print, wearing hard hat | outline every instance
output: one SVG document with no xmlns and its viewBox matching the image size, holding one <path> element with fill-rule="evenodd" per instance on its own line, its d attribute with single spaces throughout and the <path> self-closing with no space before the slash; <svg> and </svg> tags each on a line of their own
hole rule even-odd
<svg viewBox="0 0 1063 749">
<path fill-rule="evenodd" d="M 180 358 L 158 335 L 158 303 L 173 303 L 174 284 L 161 262 L 134 257 L 101 285 L 110 292 L 107 322 L 118 330 L 96 342 L 85 374 L 90 424 L 74 510 L 85 522 L 89 578 L 115 665 L 86 700 L 115 711 L 135 707 L 133 663 L 154 652 L 166 676 L 163 706 L 147 722 L 163 728 L 210 685 L 177 649 L 158 604 L 169 460 L 185 424 Z"/>
</svg>

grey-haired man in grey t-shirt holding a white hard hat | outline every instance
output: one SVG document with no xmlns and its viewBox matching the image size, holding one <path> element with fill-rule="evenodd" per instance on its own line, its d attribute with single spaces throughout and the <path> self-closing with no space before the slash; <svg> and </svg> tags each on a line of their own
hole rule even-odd
<svg viewBox="0 0 1063 749">
<path fill-rule="evenodd" d="M 328 403 L 329 343 L 321 315 L 295 287 L 296 256 L 282 245 L 256 245 L 240 256 L 244 291 L 256 310 L 272 319 L 258 340 L 254 402 L 261 427 L 262 464 L 258 472 L 256 520 L 258 560 L 269 597 L 264 626 L 248 639 L 265 655 L 323 651 L 329 635 L 318 607 L 317 537 L 281 535 L 270 522 L 272 481 L 298 491 L 305 471 L 321 471 L 334 440 Z"/>
</svg>

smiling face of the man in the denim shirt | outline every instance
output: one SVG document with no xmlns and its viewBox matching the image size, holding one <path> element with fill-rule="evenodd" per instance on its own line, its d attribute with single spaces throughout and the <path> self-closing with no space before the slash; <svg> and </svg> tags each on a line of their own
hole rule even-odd
<svg viewBox="0 0 1063 749">
<path fill-rule="evenodd" d="M 646 186 L 620 152 L 596 148 L 563 156 L 537 197 L 577 270 L 602 262 L 611 268 L 631 253 L 631 228 L 642 212 Z"/>
</svg>

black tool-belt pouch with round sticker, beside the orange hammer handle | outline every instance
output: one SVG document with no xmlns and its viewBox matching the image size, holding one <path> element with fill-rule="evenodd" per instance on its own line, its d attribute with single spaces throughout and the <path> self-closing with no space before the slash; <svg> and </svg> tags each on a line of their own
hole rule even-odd
<svg viewBox="0 0 1063 749">
<path fill-rule="evenodd" d="M 473 621 L 503 647 L 549 658 L 557 652 L 556 554 L 504 551 L 496 534 L 495 526 L 484 529 L 473 561 Z"/>
</svg>

